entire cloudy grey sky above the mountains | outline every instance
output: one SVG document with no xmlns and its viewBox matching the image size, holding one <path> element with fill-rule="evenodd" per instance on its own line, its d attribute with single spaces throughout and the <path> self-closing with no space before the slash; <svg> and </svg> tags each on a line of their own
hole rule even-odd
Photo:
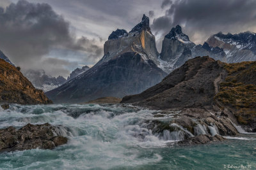
<svg viewBox="0 0 256 170">
<path fill-rule="evenodd" d="M 253 0 L 0 0 L 0 6 L 0 50 L 17 66 L 52 76 L 95 64 L 109 34 L 130 31 L 143 13 L 159 50 L 177 24 L 195 43 L 220 31 L 256 32 Z"/>
</svg>

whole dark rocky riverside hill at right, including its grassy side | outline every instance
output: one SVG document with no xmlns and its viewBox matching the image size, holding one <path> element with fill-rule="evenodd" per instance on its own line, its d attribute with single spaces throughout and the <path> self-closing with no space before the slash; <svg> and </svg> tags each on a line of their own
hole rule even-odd
<svg viewBox="0 0 256 170">
<path fill-rule="evenodd" d="M 224 131 L 221 126 L 230 126 L 225 131 L 236 134 L 234 122 L 247 131 L 256 132 L 255 66 L 256 62 L 227 64 L 209 57 L 196 57 L 175 69 L 161 83 L 141 94 L 126 96 L 121 103 L 156 110 L 184 110 L 176 120 L 183 122 L 179 125 L 187 124 L 191 117 L 196 118 L 195 113 L 200 109 L 203 111 L 198 120 L 207 122 L 209 117 L 213 118 L 213 122 L 205 124 L 226 121 L 227 124 L 219 125 L 219 131 Z M 191 112 L 191 108 L 196 110 Z"/>
</svg>

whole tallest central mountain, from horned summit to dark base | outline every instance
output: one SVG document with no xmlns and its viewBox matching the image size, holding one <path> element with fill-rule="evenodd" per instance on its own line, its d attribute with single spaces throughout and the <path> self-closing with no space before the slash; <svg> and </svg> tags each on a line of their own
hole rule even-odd
<svg viewBox="0 0 256 170">
<path fill-rule="evenodd" d="M 104 56 L 95 66 L 46 95 L 55 103 L 80 103 L 138 94 L 167 75 L 157 67 L 158 55 L 149 18 L 143 15 L 129 33 L 117 29 L 109 35 Z"/>
</svg>

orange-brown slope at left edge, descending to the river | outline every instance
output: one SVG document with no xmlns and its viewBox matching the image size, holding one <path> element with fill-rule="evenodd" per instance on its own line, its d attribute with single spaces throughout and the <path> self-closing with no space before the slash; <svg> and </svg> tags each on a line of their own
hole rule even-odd
<svg viewBox="0 0 256 170">
<path fill-rule="evenodd" d="M 42 90 L 37 90 L 20 71 L 0 59 L 0 103 L 49 104 Z"/>
</svg>

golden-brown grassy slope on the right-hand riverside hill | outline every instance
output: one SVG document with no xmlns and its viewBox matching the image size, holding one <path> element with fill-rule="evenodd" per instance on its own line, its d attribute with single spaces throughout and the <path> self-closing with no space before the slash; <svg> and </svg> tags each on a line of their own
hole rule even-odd
<svg viewBox="0 0 256 170">
<path fill-rule="evenodd" d="M 239 124 L 256 122 L 256 62 L 225 64 L 228 76 L 215 99 L 234 111 Z"/>
</svg>

